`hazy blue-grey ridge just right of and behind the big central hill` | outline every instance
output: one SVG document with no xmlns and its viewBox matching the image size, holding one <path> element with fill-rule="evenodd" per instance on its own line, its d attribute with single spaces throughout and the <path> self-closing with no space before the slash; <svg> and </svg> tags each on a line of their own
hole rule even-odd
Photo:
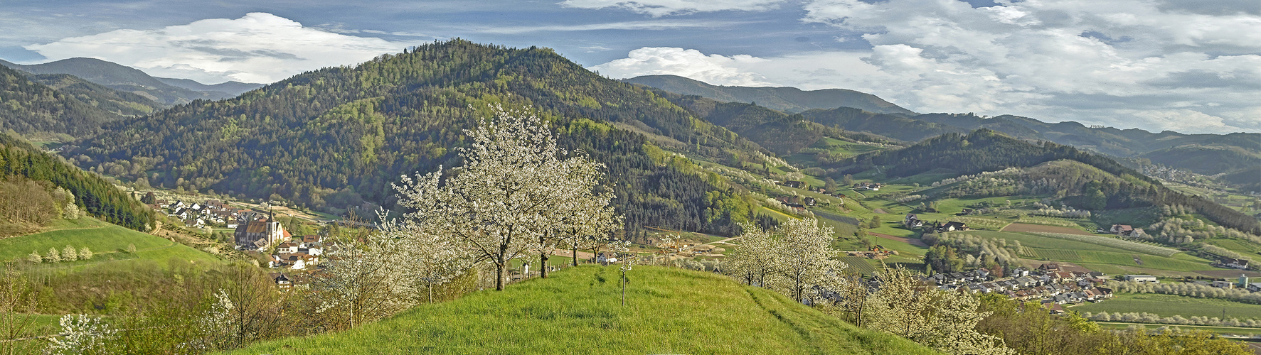
<svg viewBox="0 0 1261 355">
<path fill-rule="evenodd" d="M 788 113 L 811 108 L 855 107 L 876 113 L 918 115 L 874 94 L 851 89 L 803 91 L 794 87 L 726 87 L 680 76 L 642 76 L 622 81 L 724 102 L 755 102 L 758 106 Z"/>
</svg>

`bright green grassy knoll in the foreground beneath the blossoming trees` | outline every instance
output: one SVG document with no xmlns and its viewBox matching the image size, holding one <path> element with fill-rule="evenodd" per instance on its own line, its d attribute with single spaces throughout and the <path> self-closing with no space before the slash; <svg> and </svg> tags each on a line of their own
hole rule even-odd
<svg viewBox="0 0 1261 355">
<path fill-rule="evenodd" d="M 233 354 L 932 354 L 711 273 L 585 266 L 340 334 Z"/>
</svg>

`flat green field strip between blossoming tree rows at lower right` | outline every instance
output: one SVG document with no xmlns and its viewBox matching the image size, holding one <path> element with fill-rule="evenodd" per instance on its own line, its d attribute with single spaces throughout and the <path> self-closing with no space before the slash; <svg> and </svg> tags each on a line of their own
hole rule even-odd
<svg viewBox="0 0 1261 355">
<path fill-rule="evenodd" d="M 1072 307 L 1073 311 L 1078 312 L 1148 312 L 1156 313 L 1163 317 L 1169 316 L 1202 316 L 1202 317 L 1222 317 L 1222 311 L 1226 311 L 1226 317 L 1235 318 L 1261 318 L 1261 305 L 1242 303 L 1217 298 L 1195 298 L 1177 295 L 1156 295 L 1156 293 L 1117 293 L 1112 300 L 1107 300 L 1098 303 L 1087 303 L 1082 306 Z M 1256 332 L 1261 332 L 1261 329 L 1256 329 Z"/>
</svg>

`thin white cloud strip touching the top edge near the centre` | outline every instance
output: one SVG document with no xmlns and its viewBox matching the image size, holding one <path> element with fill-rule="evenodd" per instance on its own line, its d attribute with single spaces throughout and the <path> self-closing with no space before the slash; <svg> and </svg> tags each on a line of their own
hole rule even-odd
<svg viewBox="0 0 1261 355">
<path fill-rule="evenodd" d="M 565 0 L 560 5 L 580 9 L 622 8 L 653 16 L 705 11 L 763 11 L 784 0 Z"/>
</svg>

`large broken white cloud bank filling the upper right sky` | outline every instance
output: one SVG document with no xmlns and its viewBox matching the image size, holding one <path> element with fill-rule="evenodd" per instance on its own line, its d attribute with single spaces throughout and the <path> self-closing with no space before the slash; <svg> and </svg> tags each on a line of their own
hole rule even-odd
<svg viewBox="0 0 1261 355">
<path fill-rule="evenodd" d="M 1261 131 L 1261 15 L 1149 0 L 813 0 L 860 33 L 873 93 L 922 112 L 1190 132 Z M 855 78 L 851 82 L 864 82 Z"/>
</svg>

